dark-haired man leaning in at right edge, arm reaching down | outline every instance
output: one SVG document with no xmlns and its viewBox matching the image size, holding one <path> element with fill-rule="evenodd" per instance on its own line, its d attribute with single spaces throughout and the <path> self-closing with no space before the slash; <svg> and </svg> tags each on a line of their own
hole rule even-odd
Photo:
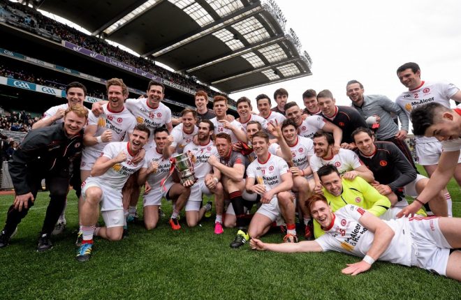
<svg viewBox="0 0 461 300">
<path fill-rule="evenodd" d="M 405 207 L 399 216 L 414 214 L 443 189 L 458 169 L 461 149 L 461 109 L 451 110 L 439 103 L 427 103 L 411 111 L 411 122 L 415 135 L 435 137 L 441 142 L 443 152 L 439 164 L 413 203 Z M 433 202 L 433 200 L 431 201 Z M 448 213 L 448 211 L 447 211 Z"/>
</svg>

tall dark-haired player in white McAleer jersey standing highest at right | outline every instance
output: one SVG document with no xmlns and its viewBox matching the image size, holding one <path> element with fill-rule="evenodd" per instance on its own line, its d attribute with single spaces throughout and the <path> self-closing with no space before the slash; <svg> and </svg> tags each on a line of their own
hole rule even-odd
<svg viewBox="0 0 461 300">
<path fill-rule="evenodd" d="M 450 108 L 450 99 L 461 100 L 461 91 L 454 84 L 446 82 L 425 82 L 421 80 L 421 70 L 417 63 L 404 63 L 397 68 L 397 76 L 400 82 L 408 88 L 397 97 L 395 103 L 410 117 L 414 108 L 425 103 L 440 103 Z M 429 177 L 432 177 L 439 164 L 442 149 L 441 144 L 435 137 L 416 136 L 416 156 L 418 163 L 423 165 Z M 461 185 L 461 157 L 455 168 L 453 177 Z M 444 190 L 448 204 L 448 214 L 451 214 L 451 197 L 448 190 Z"/>
</svg>

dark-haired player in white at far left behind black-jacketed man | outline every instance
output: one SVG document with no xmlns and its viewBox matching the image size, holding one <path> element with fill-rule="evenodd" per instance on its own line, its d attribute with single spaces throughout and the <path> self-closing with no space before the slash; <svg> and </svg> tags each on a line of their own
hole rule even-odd
<svg viewBox="0 0 461 300">
<path fill-rule="evenodd" d="M 66 87 L 67 103 L 50 107 L 45 113 L 43 113 L 42 119 L 38 120 L 32 125 L 32 129 L 42 128 L 64 122 L 64 112 L 66 112 L 68 107 L 72 107 L 74 105 L 83 105 L 85 96 L 87 96 L 87 88 L 85 85 L 81 84 L 80 82 L 71 82 Z M 78 159 L 80 160 L 80 158 Z M 80 171 L 78 168 L 75 168 L 73 173 L 74 174 L 71 178 L 71 186 L 73 186 L 73 189 L 75 190 L 75 195 L 80 197 L 80 186 L 82 185 L 82 182 L 80 181 Z M 64 205 L 64 209 L 61 213 L 61 216 L 59 216 L 52 234 L 61 234 L 64 231 L 64 227 L 66 227 L 66 206 L 67 199 L 66 204 Z"/>
</svg>

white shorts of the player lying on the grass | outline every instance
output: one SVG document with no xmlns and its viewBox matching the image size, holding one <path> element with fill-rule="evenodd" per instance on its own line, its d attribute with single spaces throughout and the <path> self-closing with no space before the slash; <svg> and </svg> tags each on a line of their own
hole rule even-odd
<svg viewBox="0 0 461 300">
<path fill-rule="evenodd" d="M 439 228 L 438 217 L 409 218 L 411 264 L 446 276 L 451 246 Z"/>
</svg>

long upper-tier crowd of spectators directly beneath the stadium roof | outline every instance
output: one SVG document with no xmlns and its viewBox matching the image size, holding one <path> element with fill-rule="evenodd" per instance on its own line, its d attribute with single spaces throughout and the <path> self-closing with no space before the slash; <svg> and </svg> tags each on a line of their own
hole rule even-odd
<svg viewBox="0 0 461 300">
<path fill-rule="evenodd" d="M 0 4 L 3 8 L 10 13 L 14 13 L 13 10 L 21 10 L 27 15 L 31 15 L 32 20 L 34 22 L 26 22 L 24 17 L 22 17 L 23 24 L 27 24 L 28 26 L 32 26 L 37 24 L 39 28 L 45 28 L 47 31 L 52 31 L 52 33 L 63 40 L 67 40 L 68 42 L 74 43 L 75 45 L 79 45 L 80 47 L 84 47 L 88 50 L 92 50 L 96 53 L 102 54 L 105 57 L 111 57 L 117 61 L 121 61 L 122 63 L 126 63 L 129 66 L 134 66 L 141 70 L 145 70 L 152 75 L 159 76 L 163 79 L 166 79 L 170 82 L 175 84 L 180 84 L 182 87 L 187 87 L 196 91 L 198 89 L 207 91 L 207 93 L 211 94 L 212 96 L 220 95 L 221 93 L 217 93 L 210 89 L 203 84 L 198 84 L 193 78 L 186 77 L 184 75 L 180 75 L 178 73 L 170 72 L 164 68 L 155 65 L 155 62 L 151 59 L 142 59 L 140 57 L 136 57 L 129 52 L 119 49 L 119 47 L 115 47 L 107 43 L 105 40 L 101 38 L 97 38 L 96 36 L 87 36 L 85 33 L 82 33 L 72 27 L 68 27 L 65 24 L 61 24 L 56 22 L 41 13 L 38 13 L 36 10 L 24 6 L 19 3 L 8 3 L 8 4 Z M 31 18 L 27 18 L 30 20 Z M 21 21 L 19 19 L 18 21 Z M 227 95 L 225 95 L 227 96 Z M 235 101 L 229 99 L 229 104 L 236 105 Z"/>
</svg>

